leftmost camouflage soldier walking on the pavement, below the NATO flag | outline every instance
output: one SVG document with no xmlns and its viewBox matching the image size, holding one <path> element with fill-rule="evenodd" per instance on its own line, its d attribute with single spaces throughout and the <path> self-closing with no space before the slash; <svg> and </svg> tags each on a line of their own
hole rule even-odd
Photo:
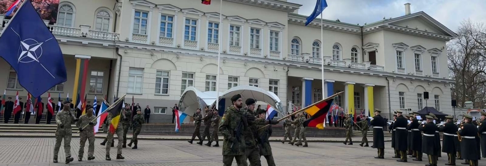
<svg viewBox="0 0 486 166">
<path fill-rule="evenodd" d="M 64 153 L 66 154 L 66 164 L 72 162 L 74 158 L 71 157 L 71 137 L 73 136 L 73 129 L 71 124 L 78 121 L 74 117 L 74 111 L 71 110 L 71 104 L 64 101 L 64 107 L 61 112 L 55 116 L 57 129 L 55 130 L 55 145 L 54 145 L 54 163 L 57 163 L 57 154 L 61 147 L 62 139 L 64 139 Z"/>
</svg>

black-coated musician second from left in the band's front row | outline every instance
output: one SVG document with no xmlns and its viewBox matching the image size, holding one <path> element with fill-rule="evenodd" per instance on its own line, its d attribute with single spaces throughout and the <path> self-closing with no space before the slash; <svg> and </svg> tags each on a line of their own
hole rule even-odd
<svg viewBox="0 0 486 166">
<path fill-rule="evenodd" d="M 400 152 L 400 159 L 397 162 L 407 162 L 406 160 L 406 150 L 407 150 L 407 139 L 406 136 L 408 131 L 406 130 L 406 125 L 408 124 L 406 118 L 402 116 L 402 111 L 397 111 L 397 119 L 393 123 L 393 129 L 395 130 L 395 149 Z"/>
</svg>

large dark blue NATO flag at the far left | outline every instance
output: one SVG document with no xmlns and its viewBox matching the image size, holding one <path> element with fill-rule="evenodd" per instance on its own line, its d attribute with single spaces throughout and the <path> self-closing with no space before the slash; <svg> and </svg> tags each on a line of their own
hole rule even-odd
<svg viewBox="0 0 486 166">
<path fill-rule="evenodd" d="M 30 0 L 24 0 L 3 29 L 0 57 L 17 72 L 19 83 L 32 96 L 67 80 L 61 48 Z"/>
</svg>

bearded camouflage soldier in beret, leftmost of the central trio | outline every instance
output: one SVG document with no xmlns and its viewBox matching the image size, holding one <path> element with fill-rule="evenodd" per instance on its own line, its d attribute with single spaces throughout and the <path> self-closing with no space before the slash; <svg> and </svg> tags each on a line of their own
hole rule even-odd
<svg viewBox="0 0 486 166">
<path fill-rule="evenodd" d="M 243 100 L 240 94 L 231 97 L 231 105 L 219 121 L 219 130 L 223 135 L 223 166 L 231 166 L 233 158 L 238 166 L 247 166 L 243 131 L 248 126 L 243 117 Z M 193 136 L 194 137 L 194 136 Z"/>
</svg>

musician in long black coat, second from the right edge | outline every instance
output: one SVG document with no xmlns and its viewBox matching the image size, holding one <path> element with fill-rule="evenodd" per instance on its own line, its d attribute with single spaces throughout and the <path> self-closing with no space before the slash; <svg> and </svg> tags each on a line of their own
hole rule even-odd
<svg viewBox="0 0 486 166">
<path fill-rule="evenodd" d="M 458 135 L 461 136 L 460 142 L 460 151 L 462 158 L 468 161 L 468 163 L 461 163 L 461 164 L 469 164 L 469 166 L 478 166 L 478 149 L 474 148 L 477 145 L 476 136 L 478 135 L 478 128 L 473 125 L 472 117 L 470 115 L 463 115 L 464 117 L 464 125 L 462 125 L 458 131 Z"/>
</svg>

